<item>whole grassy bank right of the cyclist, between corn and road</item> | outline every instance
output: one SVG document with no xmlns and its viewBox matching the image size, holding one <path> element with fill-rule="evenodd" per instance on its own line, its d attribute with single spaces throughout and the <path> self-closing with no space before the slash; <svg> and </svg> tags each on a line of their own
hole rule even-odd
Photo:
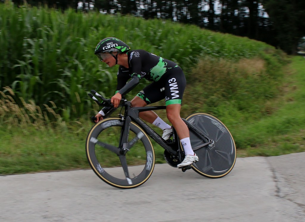
<svg viewBox="0 0 305 222">
<path fill-rule="evenodd" d="M 206 111 L 220 118 L 245 156 L 304 151 L 305 61 L 295 57 L 292 64 L 271 69 L 274 63 L 260 58 L 200 61 L 194 69 L 199 75 L 185 93 L 195 102 L 184 105 L 182 113 Z"/>
</svg>

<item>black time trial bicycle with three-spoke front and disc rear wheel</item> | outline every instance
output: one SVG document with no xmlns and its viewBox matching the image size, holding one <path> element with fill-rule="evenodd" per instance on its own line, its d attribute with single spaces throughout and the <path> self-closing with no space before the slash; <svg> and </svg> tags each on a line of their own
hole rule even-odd
<svg viewBox="0 0 305 222">
<path fill-rule="evenodd" d="M 149 136 L 164 148 L 163 155 L 170 166 L 177 167 L 183 161 L 185 153 L 174 128 L 172 138 L 165 141 L 139 118 L 139 112 L 166 109 L 166 106 L 131 107 L 130 101 L 122 99 L 119 107 L 124 107 L 124 113 L 121 110 L 119 117 L 109 117 L 117 109 L 110 99 L 95 90 L 88 95 L 99 106 L 111 107 L 103 120 L 91 128 L 86 139 L 88 162 L 107 184 L 130 189 L 148 180 L 155 166 L 155 152 Z M 94 119 L 93 116 L 92 121 Z M 236 161 L 236 146 L 228 128 L 206 113 L 194 113 L 182 120 L 188 126 L 192 149 L 199 157 L 198 162 L 182 171 L 193 169 L 208 178 L 227 175 Z M 122 170 L 114 170 L 109 165 L 121 166 Z"/>
</svg>

